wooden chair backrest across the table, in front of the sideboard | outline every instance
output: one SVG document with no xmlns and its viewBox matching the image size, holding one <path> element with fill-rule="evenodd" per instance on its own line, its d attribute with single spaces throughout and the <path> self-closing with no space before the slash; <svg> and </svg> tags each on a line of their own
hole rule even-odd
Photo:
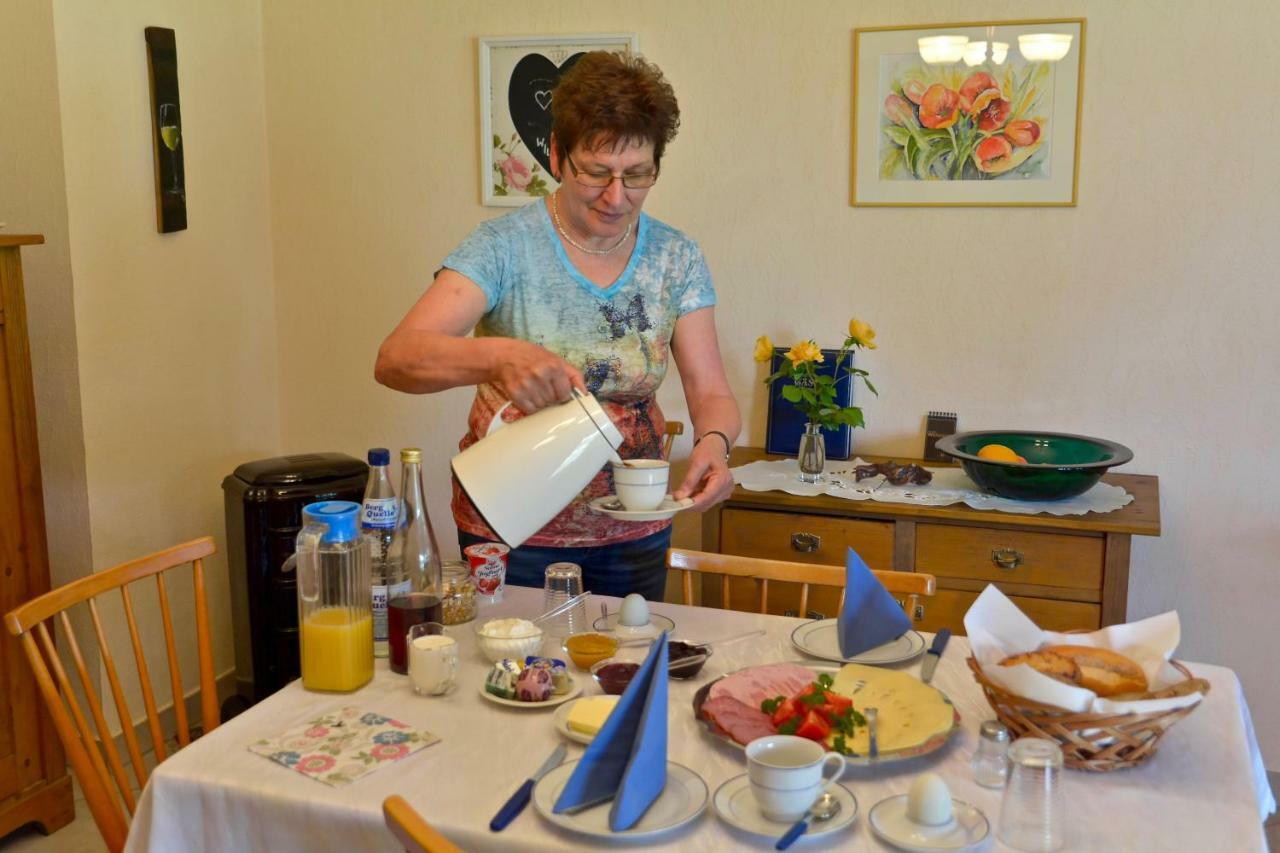
<svg viewBox="0 0 1280 853">
<path fill-rule="evenodd" d="M 800 612 L 809 610 L 809 585 L 838 587 L 840 606 L 845 606 L 845 567 L 815 566 L 808 562 L 786 560 L 762 560 L 759 557 L 740 557 L 728 553 L 708 553 L 686 548 L 667 551 L 667 567 L 684 573 L 684 603 L 694 603 L 694 573 L 721 576 L 721 605 L 730 607 L 730 578 L 754 578 L 759 590 L 759 612 L 769 612 L 769 581 L 800 584 Z M 937 587 L 933 575 L 923 571 L 876 571 L 872 574 L 884 584 L 895 597 L 901 597 L 902 608 L 913 620 L 920 596 L 932 596 Z"/>
</svg>

